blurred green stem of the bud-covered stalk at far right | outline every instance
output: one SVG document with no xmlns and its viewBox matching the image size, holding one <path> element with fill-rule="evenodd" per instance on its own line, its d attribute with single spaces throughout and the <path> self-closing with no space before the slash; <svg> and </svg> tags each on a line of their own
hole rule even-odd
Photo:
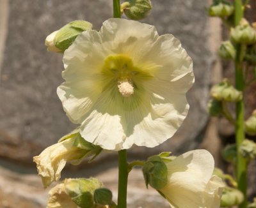
<svg viewBox="0 0 256 208">
<path fill-rule="evenodd" d="M 234 1 L 235 6 L 235 24 L 239 24 L 243 18 L 243 3 L 241 0 Z M 244 91 L 244 75 L 243 75 L 243 54 L 246 47 L 241 44 L 236 45 L 236 89 Z M 244 101 L 241 100 L 236 103 L 236 147 L 239 150 L 241 143 L 245 138 L 244 135 Z M 239 205 L 239 208 L 246 208 L 247 196 L 246 196 L 246 160 L 241 155 L 240 151 L 237 151 L 237 165 L 236 165 L 236 178 L 240 191 L 244 194 L 244 202 Z"/>
</svg>

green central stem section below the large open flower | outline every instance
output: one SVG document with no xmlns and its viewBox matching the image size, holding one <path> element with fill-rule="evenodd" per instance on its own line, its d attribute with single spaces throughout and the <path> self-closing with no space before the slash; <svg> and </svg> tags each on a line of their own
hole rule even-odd
<svg viewBox="0 0 256 208">
<path fill-rule="evenodd" d="M 128 164 L 126 150 L 118 151 L 118 208 L 126 208 Z"/>
</svg>

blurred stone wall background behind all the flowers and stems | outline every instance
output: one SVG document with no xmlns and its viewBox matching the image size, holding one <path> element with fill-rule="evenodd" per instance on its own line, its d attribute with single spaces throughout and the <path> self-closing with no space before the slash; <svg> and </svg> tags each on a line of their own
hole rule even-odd
<svg viewBox="0 0 256 208">
<path fill-rule="evenodd" d="M 209 1 L 209 2 L 208 2 Z M 159 34 L 172 33 L 194 61 L 195 85 L 188 93 L 191 108 L 175 136 L 154 149 L 129 149 L 130 160 L 145 159 L 161 151 L 181 154 L 208 149 L 216 166 L 230 171 L 221 160 L 221 148 L 234 142 L 234 129 L 225 119 L 207 114 L 209 89 L 222 77 L 232 80 L 232 66 L 216 55 L 226 36 L 220 20 L 207 17 L 210 0 L 152 0 L 153 10 L 142 22 L 156 26 Z M 255 1 L 246 14 L 256 21 Z M 111 0 L 0 0 L 0 208 L 37 208 L 47 204 L 48 189 L 37 176 L 33 156 L 74 129 L 56 94 L 63 82 L 62 55 L 47 52 L 45 37 L 76 19 L 87 20 L 99 30 L 112 17 Z M 247 115 L 256 107 L 256 86 L 248 92 Z M 65 177 L 98 177 L 116 197 L 116 152 L 93 163 L 67 165 Z M 256 184 L 256 163 L 250 167 L 250 184 Z M 253 176 L 254 175 L 254 176 Z M 153 189 L 145 189 L 140 169 L 129 176 L 128 207 L 170 207 Z M 250 196 L 256 188 L 249 190 Z"/>
</svg>

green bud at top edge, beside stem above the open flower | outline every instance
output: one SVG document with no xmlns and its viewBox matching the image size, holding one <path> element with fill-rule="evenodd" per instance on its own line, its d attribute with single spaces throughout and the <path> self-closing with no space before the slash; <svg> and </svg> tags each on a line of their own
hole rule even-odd
<svg viewBox="0 0 256 208">
<path fill-rule="evenodd" d="M 121 4 L 121 11 L 132 20 L 141 20 L 147 17 L 152 10 L 150 0 L 126 0 Z"/>
</svg>

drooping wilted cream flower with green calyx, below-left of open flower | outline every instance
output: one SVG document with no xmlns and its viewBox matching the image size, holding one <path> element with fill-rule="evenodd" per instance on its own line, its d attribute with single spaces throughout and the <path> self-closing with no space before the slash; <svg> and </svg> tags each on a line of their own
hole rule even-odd
<svg viewBox="0 0 256 208">
<path fill-rule="evenodd" d="M 60 142 L 47 147 L 33 160 L 36 163 L 38 174 L 42 177 L 45 187 L 61 177 L 61 170 L 67 161 L 79 163 L 84 157 L 95 156 L 102 149 L 90 142 L 86 142 L 77 130 L 61 138 Z"/>
</svg>

